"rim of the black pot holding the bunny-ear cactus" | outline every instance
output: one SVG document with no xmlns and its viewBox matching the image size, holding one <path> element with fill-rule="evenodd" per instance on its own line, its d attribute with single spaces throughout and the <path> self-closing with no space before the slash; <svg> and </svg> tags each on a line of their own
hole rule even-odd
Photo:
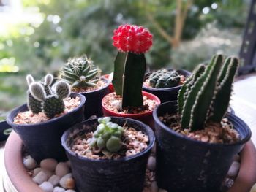
<svg viewBox="0 0 256 192">
<path fill-rule="evenodd" d="M 45 122 L 42 122 L 42 123 L 33 123 L 33 124 L 16 124 L 16 123 L 13 123 L 13 119 L 11 118 L 12 115 L 15 115 L 17 116 L 18 113 L 21 111 L 20 109 L 23 109 L 24 107 L 27 106 L 27 104 L 23 104 L 21 105 L 20 107 L 16 107 L 14 110 L 12 110 L 8 115 L 7 115 L 7 123 L 11 126 L 11 127 L 16 127 L 16 126 L 22 126 L 22 127 L 34 127 L 34 126 L 47 126 L 48 123 L 53 123 L 53 122 L 56 122 L 56 121 L 60 121 L 60 120 L 63 120 L 64 118 L 66 118 L 67 115 L 69 114 L 72 114 L 72 113 L 75 113 L 77 112 L 78 110 L 80 110 L 81 107 L 83 107 L 83 105 L 85 104 L 86 102 L 86 97 L 83 96 L 82 94 L 80 93 L 71 93 L 70 94 L 70 97 L 74 98 L 75 96 L 78 96 L 80 98 L 80 104 L 78 105 L 78 107 L 76 107 L 74 110 L 70 111 L 70 112 L 67 112 L 66 114 L 64 115 L 61 115 L 57 118 L 51 118 L 50 120 L 47 120 Z"/>
</svg>

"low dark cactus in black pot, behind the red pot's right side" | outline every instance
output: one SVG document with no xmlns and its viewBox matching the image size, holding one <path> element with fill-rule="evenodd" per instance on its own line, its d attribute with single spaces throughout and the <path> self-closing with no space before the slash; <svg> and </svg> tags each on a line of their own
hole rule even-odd
<svg viewBox="0 0 256 192">
<path fill-rule="evenodd" d="M 148 72 L 143 82 L 143 91 L 152 93 L 162 103 L 177 100 L 178 91 L 191 73 L 186 70 L 159 69 Z"/>
</svg>

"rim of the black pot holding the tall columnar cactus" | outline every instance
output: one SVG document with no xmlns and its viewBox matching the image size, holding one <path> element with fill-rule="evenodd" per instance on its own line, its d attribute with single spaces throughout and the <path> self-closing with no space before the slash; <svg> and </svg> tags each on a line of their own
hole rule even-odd
<svg viewBox="0 0 256 192">
<path fill-rule="evenodd" d="M 183 134 L 178 134 L 176 131 L 173 131 L 173 129 L 167 127 L 165 125 L 165 123 L 162 123 L 162 121 L 159 120 L 158 115 L 157 115 L 157 111 L 159 110 L 159 107 L 161 107 L 165 104 L 169 104 L 169 103 L 176 104 L 176 101 L 167 101 L 165 103 L 159 104 L 159 106 L 157 106 L 157 108 L 153 112 L 153 118 L 154 118 L 155 123 L 158 123 L 161 128 L 165 129 L 165 131 L 167 131 L 169 134 L 173 134 L 176 137 L 179 137 L 180 139 L 185 139 L 185 140 L 188 140 L 190 142 L 195 142 L 195 143 L 201 144 L 201 145 L 208 145 L 208 146 L 221 146 L 222 145 L 222 146 L 227 146 L 228 147 L 228 146 L 233 146 L 233 145 L 242 145 L 242 144 L 248 142 L 249 139 L 252 136 L 252 131 L 250 130 L 249 126 L 244 122 L 244 120 L 242 120 L 241 118 L 238 118 L 238 116 L 236 116 L 234 114 L 231 114 L 231 113 L 227 113 L 227 119 L 232 118 L 233 121 L 240 122 L 241 124 L 243 124 L 244 128 L 246 128 L 246 130 L 247 130 L 246 137 L 244 137 L 244 139 L 240 139 L 238 142 L 235 142 L 235 143 L 232 143 L 232 144 L 230 144 L 230 143 L 201 142 L 201 141 L 197 141 L 195 139 L 189 138 L 189 137 L 187 137 Z M 240 133 L 238 133 L 238 134 L 240 134 Z"/>
</svg>

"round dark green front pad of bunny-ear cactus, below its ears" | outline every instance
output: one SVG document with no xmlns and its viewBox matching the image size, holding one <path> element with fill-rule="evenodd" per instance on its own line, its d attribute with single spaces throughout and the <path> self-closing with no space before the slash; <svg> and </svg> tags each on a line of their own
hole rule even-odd
<svg viewBox="0 0 256 192">
<path fill-rule="evenodd" d="M 64 112 L 65 104 L 62 99 L 59 99 L 58 96 L 53 95 L 45 98 L 42 108 L 48 118 L 54 118 L 55 115 Z"/>
</svg>

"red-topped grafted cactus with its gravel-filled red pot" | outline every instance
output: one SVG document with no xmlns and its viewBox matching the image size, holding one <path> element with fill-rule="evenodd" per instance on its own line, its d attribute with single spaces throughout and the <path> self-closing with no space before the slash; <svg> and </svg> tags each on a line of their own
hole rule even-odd
<svg viewBox="0 0 256 192">
<path fill-rule="evenodd" d="M 160 101 L 142 91 L 144 53 L 152 45 L 152 35 L 142 26 L 119 26 L 113 34 L 113 45 L 118 48 L 112 81 L 115 92 L 102 99 L 104 115 L 134 118 L 152 126 L 152 111 Z"/>
</svg>

